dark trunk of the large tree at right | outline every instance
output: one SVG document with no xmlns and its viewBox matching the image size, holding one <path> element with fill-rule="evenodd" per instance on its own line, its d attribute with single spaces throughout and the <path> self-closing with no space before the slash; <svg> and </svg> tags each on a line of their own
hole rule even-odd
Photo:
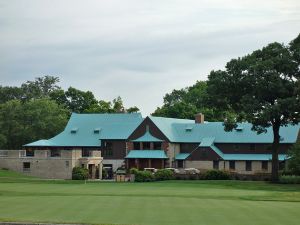
<svg viewBox="0 0 300 225">
<path fill-rule="evenodd" d="M 277 183 L 279 180 L 279 160 L 278 160 L 278 150 L 279 150 L 279 129 L 280 129 L 280 123 L 274 123 L 273 124 L 273 144 L 272 144 L 272 176 L 271 181 L 273 183 Z"/>
</svg>

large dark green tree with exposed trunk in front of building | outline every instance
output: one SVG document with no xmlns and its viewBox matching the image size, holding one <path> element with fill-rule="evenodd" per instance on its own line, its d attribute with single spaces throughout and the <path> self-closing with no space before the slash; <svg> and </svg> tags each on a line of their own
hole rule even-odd
<svg viewBox="0 0 300 225">
<path fill-rule="evenodd" d="M 242 58 L 233 59 L 225 71 L 212 71 L 208 93 L 214 104 L 236 113 L 225 130 L 248 121 L 257 133 L 273 130 L 272 181 L 278 181 L 280 127 L 299 122 L 299 37 L 289 46 L 271 43 Z"/>
</svg>

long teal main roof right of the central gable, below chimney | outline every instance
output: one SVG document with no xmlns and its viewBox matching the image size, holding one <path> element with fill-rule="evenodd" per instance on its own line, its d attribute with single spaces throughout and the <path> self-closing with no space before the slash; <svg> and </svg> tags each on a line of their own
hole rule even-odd
<svg viewBox="0 0 300 225">
<path fill-rule="evenodd" d="M 252 131 L 252 124 L 239 123 L 238 130 L 224 131 L 223 122 L 195 123 L 194 120 L 173 119 L 149 116 L 153 123 L 171 141 L 176 143 L 200 143 L 203 138 L 215 138 L 214 143 L 272 143 L 272 128 L 267 133 L 257 134 Z M 186 127 L 190 129 L 187 130 Z M 242 129 L 241 129 L 242 128 Z M 281 143 L 295 143 L 300 125 L 280 128 Z"/>
</svg>

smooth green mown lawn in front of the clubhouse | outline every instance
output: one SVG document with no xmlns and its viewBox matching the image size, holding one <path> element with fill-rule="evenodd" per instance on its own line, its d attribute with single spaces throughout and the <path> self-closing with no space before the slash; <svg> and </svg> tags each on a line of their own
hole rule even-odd
<svg viewBox="0 0 300 225">
<path fill-rule="evenodd" d="M 0 221 L 295 225 L 300 186 L 242 181 L 46 181 L 0 170 Z"/>
</svg>

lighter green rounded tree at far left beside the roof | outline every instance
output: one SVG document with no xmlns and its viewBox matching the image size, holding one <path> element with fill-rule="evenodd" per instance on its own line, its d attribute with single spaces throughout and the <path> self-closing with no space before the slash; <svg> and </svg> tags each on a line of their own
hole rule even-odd
<svg viewBox="0 0 300 225">
<path fill-rule="evenodd" d="M 0 148 L 20 149 L 25 143 L 50 138 L 64 128 L 67 117 L 67 110 L 49 99 L 0 104 Z"/>
</svg>

